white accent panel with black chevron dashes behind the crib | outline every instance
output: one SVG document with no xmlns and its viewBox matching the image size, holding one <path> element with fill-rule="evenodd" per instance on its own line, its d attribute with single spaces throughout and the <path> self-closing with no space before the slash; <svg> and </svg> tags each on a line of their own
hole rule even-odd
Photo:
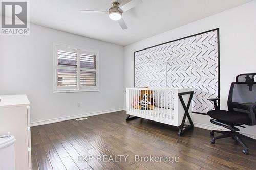
<svg viewBox="0 0 256 170">
<path fill-rule="evenodd" d="M 219 29 L 134 53 L 135 87 L 193 88 L 193 113 L 214 109 L 219 96 Z"/>
</svg>

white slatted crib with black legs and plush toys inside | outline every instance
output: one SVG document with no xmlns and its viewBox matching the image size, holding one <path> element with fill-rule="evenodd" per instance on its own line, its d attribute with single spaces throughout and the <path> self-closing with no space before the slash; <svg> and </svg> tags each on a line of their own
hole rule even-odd
<svg viewBox="0 0 256 170">
<path fill-rule="evenodd" d="M 185 130 L 193 127 L 189 116 L 193 93 L 191 88 L 127 88 L 126 120 L 133 119 L 130 118 L 130 115 L 133 115 L 177 126 L 180 136 Z M 189 119 L 189 126 L 184 124 L 186 117 Z"/>
</svg>

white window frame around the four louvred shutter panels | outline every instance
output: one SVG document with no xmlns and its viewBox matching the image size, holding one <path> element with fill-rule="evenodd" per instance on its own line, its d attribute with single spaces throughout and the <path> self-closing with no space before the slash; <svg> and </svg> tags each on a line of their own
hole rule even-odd
<svg viewBox="0 0 256 170">
<path fill-rule="evenodd" d="M 77 53 L 77 68 L 68 66 L 58 66 L 57 51 L 69 51 Z M 96 56 L 96 69 L 80 68 L 80 54 L 88 54 Z M 58 86 L 58 69 L 76 70 L 77 71 L 77 86 Z M 96 86 L 81 86 L 80 74 L 81 70 L 95 71 Z M 84 47 L 53 43 L 53 93 L 68 93 L 68 92 L 87 92 L 99 91 L 99 52 Z"/>
</svg>

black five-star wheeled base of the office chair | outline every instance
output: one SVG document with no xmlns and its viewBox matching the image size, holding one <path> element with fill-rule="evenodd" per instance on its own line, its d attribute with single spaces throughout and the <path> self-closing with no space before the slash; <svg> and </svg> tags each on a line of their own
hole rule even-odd
<svg viewBox="0 0 256 170">
<path fill-rule="evenodd" d="M 245 143 L 238 137 L 238 134 L 239 134 L 238 132 L 236 132 L 236 131 L 216 131 L 216 130 L 213 130 L 213 131 L 210 132 L 210 135 L 214 136 L 215 132 L 222 133 L 222 135 L 210 139 L 211 144 L 214 144 L 215 140 L 217 140 L 217 139 L 231 137 L 233 140 L 238 141 L 242 145 L 242 147 L 244 148 L 243 149 L 244 154 L 246 154 L 246 155 L 249 154 L 249 149 L 246 147 Z"/>
</svg>

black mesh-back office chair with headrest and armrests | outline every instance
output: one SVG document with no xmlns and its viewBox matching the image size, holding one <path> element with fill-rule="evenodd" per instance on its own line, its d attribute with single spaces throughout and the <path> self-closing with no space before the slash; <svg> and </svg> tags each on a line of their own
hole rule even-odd
<svg viewBox="0 0 256 170">
<path fill-rule="evenodd" d="M 254 80 L 256 73 L 240 74 L 236 77 L 236 82 L 231 83 L 228 95 L 228 111 L 220 110 L 217 106 L 216 99 L 208 99 L 214 102 L 215 110 L 208 111 L 208 115 L 212 118 L 210 122 L 216 125 L 223 126 L 231 131 L 213 130 L 210 134 L 213 136 L 215 132 L 223 135 L 211 139 L 214 144 L 216 139 L 232 137 L 237 140 L 243 147 L 243 153 L 249 154 L 249 149 L 245 143 L 239 138 L 239 129 L 245 128 L 242 125 L 256 125 L 256 82 Z"/>
</svg>

